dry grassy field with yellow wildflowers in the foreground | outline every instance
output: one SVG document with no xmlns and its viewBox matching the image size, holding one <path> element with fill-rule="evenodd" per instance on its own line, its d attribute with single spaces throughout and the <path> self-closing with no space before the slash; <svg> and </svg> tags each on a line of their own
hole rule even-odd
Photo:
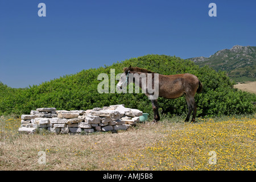
<svg viewBox="0 0 256 182">
<path fill-rule="evenodd" d="M 0 170 L 255 170 L 255 115 L 181 121 L 115 134 L 26 135 L 17 132 L 19 118 L 1 117 Z"/>
</svg>

